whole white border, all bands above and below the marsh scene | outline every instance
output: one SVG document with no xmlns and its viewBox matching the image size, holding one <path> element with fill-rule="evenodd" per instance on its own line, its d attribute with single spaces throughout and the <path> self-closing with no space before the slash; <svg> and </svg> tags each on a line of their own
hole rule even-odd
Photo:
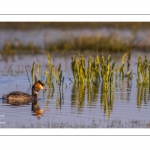
<svg viewBox="0 0 150 150">
<path fill-rule="evenodd" d="M 148 1 L 2 1 L 0 14 L 148 14 Z M 149 13 L 150 14 L 150 13 Z M 0 15 L 0 21 L 150 21 L 150 15 Z M 0 135 L 150 135 L 149 129 L 0 129 Z M 0 137 L 0 146 L 19 149 L 146 149 L 149 137 Z M 33 146 L 33 147 L 32 147 Z"/>
</svg>

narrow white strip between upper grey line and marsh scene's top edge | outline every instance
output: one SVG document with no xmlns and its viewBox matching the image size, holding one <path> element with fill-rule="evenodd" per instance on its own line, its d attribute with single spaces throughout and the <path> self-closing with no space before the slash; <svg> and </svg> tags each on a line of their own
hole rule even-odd
<svg viewBox="0 0 150 150">
<path fill-rule="evenodd" d="M 150 15 L 0 15 L 1 22 L 147 22 Z"/>
</svg>

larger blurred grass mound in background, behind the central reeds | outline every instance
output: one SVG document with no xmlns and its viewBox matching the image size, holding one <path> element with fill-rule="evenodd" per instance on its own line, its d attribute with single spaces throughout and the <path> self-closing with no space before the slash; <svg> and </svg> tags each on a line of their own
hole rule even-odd
<svg viewBox="0 0 150 150">
<path fill-rule="evenodd" d="M 110 36 L 78 36 L 70 37 L 68 39 L 60 39 L 57 42 L 51 42 L 46 45 L 47 51 L 68 51 L 68 50 L 94 50 L 101 52 L 126 52 L 131 50 L 131 41 L 117 39 Z"/>
</svg>

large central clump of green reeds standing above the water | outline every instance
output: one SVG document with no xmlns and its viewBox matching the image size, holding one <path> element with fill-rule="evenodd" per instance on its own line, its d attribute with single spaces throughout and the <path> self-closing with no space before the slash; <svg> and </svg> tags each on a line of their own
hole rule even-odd
<svg viewBox="0 0 150 150">
<path fill-rule="evenodd" d="M 105 90 L 108 90 L 108 83 L 113 82 L 115 63 L 111 63 L 111 56 L 107 58 L 96 56 L 89 57 L 87 68 L 85 67 L 85 58 L 83 55 L 72 57 L 71 69 L 74 82 L 78 83 L 100 83 L 102 80 Z"/>
</svg>

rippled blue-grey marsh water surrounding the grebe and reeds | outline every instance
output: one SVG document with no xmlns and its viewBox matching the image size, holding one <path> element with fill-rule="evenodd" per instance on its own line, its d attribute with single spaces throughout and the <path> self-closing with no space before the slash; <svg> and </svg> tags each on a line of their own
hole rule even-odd
<svg viewBox="0 0 150 150">
<path fill-rule="evenodd" d="M 1 35 L 5 35 L 5 38 L 4 36 L 1 38 L 8 40 L 7 34 L 9 35 L 11 32 L 5 33 L 3 31 Z M 47 38 L 49 36 L 44 34 L 46 31 L 42 32 L 43 36 L 39 36 L 36 39 L 37 43 L 38 41 L 43 41 L 44 36 L 47 36 Z M 87 31 L 85 32 L 87 33 Z M 126 33 L 129 34 L 129 32 Z M 27 35 L 24 34 L 22 32 L 14 33 L 16 39 L 22 38 L 26 42 L 29 32 L 26 33 Z M 23 38 L 21 35 L 25 37 Z M 37 33 L 32 31 L 32 35 L 35 37 Z M 56 33 L 56 36 L 59 37 L 59 32 Z M 31 39 L 28 40 L 32 41 L 34 38 L 30 37 Z M 15 40 L 15 38 L 12 38 L 12 40 Z M 85 54 L 85 59 L 88 59 L 91 55 L 95 56 L 95 54 L 94 52 Z M 64 84 L 61 88 L 55 85 L 54 90 L 50 89 L 46 92 L 39 92 L 39 105 L 45 112 L 41 116 L 37 116 L 31 111 L 31 104 L 12 106 L 3 103 L 2 99 L 0 99 L 0 127 L 107 127 L 108 122 L 115 120 L 121 120 L 124 124 L 140 121 L 149 122 L 150 90 L 149 88 L 138 87 L 136 82 L 138 54 L 147 55 L 147 53 L 137 52 L 136 50 L 131 52 L 130 63 L 131 70 L 134 73 L 133 79 L 132 81 L 124 79 L 123 82 L 114 81 L 111 99 L 109 96 L 105 97 L 101 82 L 98 85 L 89 84 L 86 86 L 82 84 L 77 85 L 73 82 L 71 55 L 51 54 L 53 64 L 55 66 L 61 64 Z M 105 55 L 107 56 L 107 54 Z M 112 53 L 111 55 L 117 64 L 121 63 L 122 54 Z M 7 60 L 1 57 L 0 97 L 11 91 L 22 91 L 31 94 L 31 87 L 25 67 L 28 70 L 29 77 L 31 77 L 32 64 L 37 61 L 40 62 L 41 72 L 44 73 L 47 69 L 47 56 L 44 54 L 20 55 L 9 57 Z"/>
</svg>

